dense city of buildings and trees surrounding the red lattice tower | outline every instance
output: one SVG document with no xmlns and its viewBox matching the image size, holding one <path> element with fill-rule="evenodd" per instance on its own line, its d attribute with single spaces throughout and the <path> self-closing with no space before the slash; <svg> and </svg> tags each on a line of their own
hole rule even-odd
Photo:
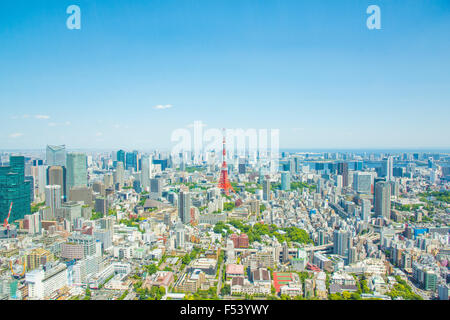
<svg viewBox="0 0 450 320">
<path fill-rule="evenodd" d="M 449 153 L 225 148 L 3 152 L 1 299 L 448 300 Z"/>
</svg>

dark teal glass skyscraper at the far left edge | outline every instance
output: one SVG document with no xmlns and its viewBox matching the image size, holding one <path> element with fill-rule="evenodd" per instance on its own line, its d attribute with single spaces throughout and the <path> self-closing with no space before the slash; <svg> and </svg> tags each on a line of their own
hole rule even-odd
<svg viewBox="0 0 450 320">
<path fill-rule="evenodd" d="M 22 219 L 31 213 L 30 181 L 25 181 L 25 158 L 11 156 L 9 166 L 0 166 L 0 219 L 8 216 L 13 202 L 9 222 Z"/>
</svg>

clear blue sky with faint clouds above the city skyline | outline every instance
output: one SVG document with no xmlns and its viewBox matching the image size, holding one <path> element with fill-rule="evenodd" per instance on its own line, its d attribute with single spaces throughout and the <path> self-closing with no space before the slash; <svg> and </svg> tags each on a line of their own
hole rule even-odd
<svg viewBox="0 0 450 320">
<path fill-rule="evenodd" d="M 2 0 L 0 148 L 169 148 L 196 120 L 281 148 L 448 148 L 449 35 L 448 0 Z"/>
</svg>

